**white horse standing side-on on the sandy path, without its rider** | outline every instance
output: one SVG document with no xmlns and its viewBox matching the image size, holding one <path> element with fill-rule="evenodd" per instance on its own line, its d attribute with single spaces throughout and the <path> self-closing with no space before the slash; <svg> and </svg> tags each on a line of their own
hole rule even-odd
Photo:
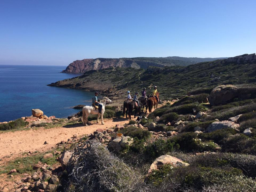
<svg viewBox="0 0 256 192">
<path fill-rule="evenodd" d="M 84 106 L 83 107 L 83 124 L 85 126 L 87 126 L 87 123 L 89 124 L 89 121 L 88 121 L 88 116 L 90 114 L 98 114 L 98 117 L 97 117 L 97 123 L 99 123 L 99 117 L 101 116 L 101 124 L 104 124 L 103 122 L 103 115 L 104 115 L 104 112 L 105 112 L 105 105 L 108 104 L 108 103 L 112 103 L 112 100 L 108 99 L 107 97 L 104 97 L 103 98 L 103 103 L 100 102 L 100 104 L 102 105 L 102 109 L 101 109 L 101 113 L 99 113 L 98 110 L 93 110 L 93 107 L 92 106 Z"/>
</svg>

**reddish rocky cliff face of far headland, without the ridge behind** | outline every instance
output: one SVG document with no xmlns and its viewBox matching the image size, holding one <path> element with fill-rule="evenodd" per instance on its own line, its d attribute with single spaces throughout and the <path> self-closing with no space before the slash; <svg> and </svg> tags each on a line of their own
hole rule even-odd
<svg viewBox="0 0 256 192">
<path fill-rule="evenodd" d="M 164 67 L 164 65 L 147 62 L 136 61 L 129 59 L 84 59 L 76 60 L 68 65 L 68 67 L 62 71 L 62 73 L 84 73 L 91 70 L 105 69 L 109 67 L 122 67 L 122 68 L 148 68 L 149 66 Z"/>
</svg>

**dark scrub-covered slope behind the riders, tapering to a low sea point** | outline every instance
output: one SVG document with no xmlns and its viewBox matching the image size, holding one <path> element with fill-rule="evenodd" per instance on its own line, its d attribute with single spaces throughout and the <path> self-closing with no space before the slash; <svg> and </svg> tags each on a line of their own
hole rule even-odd
<svg viewBox="0 0 256 192">
<path fill-rule="evenodd" d="M 158 86 L 160 97 L 172 98 L 187 94 L 188 91 L 215 87 L 219 84 L 255 84 L 256 56 L 245 54 L 223 60 L 182 66 L 149 67 L 148 69 L 107 68 L 92 70 L 84 75 L 50 84 L 50 86 L 67 87 L 100 91 L 105 94 L 125 95 L 127 90 L 140 91 L 143 87 L 151 92 Z"/>
</svg>

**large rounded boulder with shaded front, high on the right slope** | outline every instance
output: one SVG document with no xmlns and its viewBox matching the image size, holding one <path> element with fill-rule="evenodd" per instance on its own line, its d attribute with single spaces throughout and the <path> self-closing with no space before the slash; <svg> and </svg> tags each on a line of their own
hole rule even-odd
<svg viewBox="0 0 256 192">
<path fill-rule="evenodd" d="M 210 93 L 208 100 L 212 106 L 226 104 L 238 96 L 238 89 L 234 85 L 220 85 Z"/>
</svg>

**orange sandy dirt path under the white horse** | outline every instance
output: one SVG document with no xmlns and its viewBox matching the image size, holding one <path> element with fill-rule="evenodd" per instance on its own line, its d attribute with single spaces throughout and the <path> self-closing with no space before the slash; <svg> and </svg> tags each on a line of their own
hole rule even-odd
<svg viewBox="0 0 256 192">
<path fill-rule="evenodd" d="M 64 140 L 67 141 L 74 134 L 78 137 L 84 134 L 90 134 L 96 129 L 107 129 L 115 126 L 116 124 L 125 124 L 129 121 L 127 119 L 104 119 L 104 125 L 92 124 L 82 126 L 82 124 L 70 125 L 69 127 L 57 127 L 51 129 L 33 129 L 25 131 L 15 131 L 0 133 L 0 158 L 4 156 L 18 156 L 23 152 L 45 151 L 56 146 L 56 143 Z M 49 143 L 44 145 L 44 141 Z"/>
</svg>

